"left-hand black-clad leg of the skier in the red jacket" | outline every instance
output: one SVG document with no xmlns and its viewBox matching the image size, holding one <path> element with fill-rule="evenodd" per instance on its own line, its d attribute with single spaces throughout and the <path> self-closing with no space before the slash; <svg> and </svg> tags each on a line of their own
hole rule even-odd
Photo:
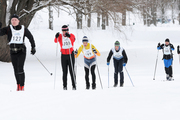
<svg viewBox="0 0 180 120">
<path fill-rule="evenodd" d="M 68 64 L 67 55 L 61 55 L 61 66 L 63 71 L 63 87 L 67 88 L 67 74 L 68 74 Z"/>
</svg>

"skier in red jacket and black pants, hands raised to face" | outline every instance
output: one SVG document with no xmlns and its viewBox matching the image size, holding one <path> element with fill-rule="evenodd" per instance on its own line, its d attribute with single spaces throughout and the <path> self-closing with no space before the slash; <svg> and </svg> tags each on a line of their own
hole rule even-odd
<svg viewBox="0 0 180 120">
<path fill-rule="evenodd" d="M 62 34 L 57 33 L 54 42 L 59 42 L 61 46 L 61 66 L 63 71 L 63 89 L 67 90 L 67 74 L 68 67 L 71 75 L 71 81 L 73 90 L 76 90 L 76 76 L 74 72 L 74 42 L 75 36 L 69 33 L 69 28 L 67 25 L 62 26 Z"/>
</svg>

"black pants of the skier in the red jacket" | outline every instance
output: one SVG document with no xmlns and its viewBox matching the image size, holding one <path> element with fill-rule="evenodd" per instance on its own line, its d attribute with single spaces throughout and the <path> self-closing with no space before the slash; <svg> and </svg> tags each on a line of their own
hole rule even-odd
<svg viewBox="0 0 180 120">
<path fill-rule="evenodd" d="M 72 59 L 72 65 L 71 65 L 71 59 Z M 71 75 L 72 86 L 76 87 L 76 83 L 75 83 L 76 75 L 74 72 L 74 63 L 75 63 L 74 51 L 71 54 L 71 59 L 70 59 L 70 55 L 63 55 L 63 54 L 61 55 L 61 66 L 62 66 L 62 71 L 63 71 L 63 86 L 64 87 L 67 87 L 68 68 Z"/>
</svg>

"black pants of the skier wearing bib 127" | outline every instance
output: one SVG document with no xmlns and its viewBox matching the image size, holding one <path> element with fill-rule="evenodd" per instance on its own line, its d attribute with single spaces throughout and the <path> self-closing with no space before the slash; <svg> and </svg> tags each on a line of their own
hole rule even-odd
<svg viewBox="0 0 180 120">
<path fill-rule="evenodd" d="M 11 61 L 14 68 L 14 74 L 16 77 L 17 84 L 24 86 L 25 73 L 24 73 L 24 62 L 26 59 L 26 50 L 21 50 L 17 53 L 11 53 Z"/>
</svg>

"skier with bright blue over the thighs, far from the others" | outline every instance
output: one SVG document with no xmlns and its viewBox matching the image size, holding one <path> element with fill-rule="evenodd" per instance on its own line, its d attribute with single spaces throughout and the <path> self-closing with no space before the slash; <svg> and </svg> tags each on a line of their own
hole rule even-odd
<svg viewBox="0 0 180 120">
<path fill-rule="evenodd" d="M 164 66 L 165 66 L 165 72 L 166 72 L 166 79 L 168 81 L 172 80 L 173 77 L 173 71 L 172 71 L 172 62 L 173 62 L 173 53 L 174 46 L 170 43 L 169 39 L 165 40 L 165 44 L 158 43 L 157 46 L 158 50 L 163 51 L 163 60 L 164 60 Z"/>
</svg>

